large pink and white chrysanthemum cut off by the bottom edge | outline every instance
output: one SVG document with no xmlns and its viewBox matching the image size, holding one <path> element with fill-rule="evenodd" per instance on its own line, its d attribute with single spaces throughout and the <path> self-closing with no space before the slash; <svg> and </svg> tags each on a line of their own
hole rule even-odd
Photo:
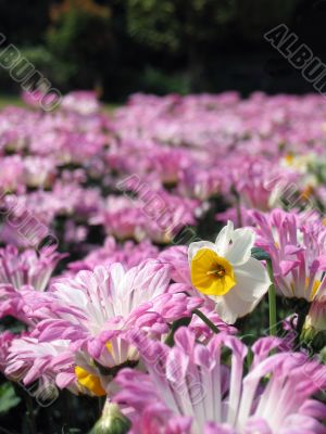
<svg viewBox="0 0 326 434">
<path fill-rule="evenodd" d="M 300 353 L 268 356 L 278 339 L 259 340 L 246 373 L 247 347 L 221 333 L 208 346 L 186 328 L 175 346 L 134 335 L 148 373 L 122 370 L 115 401 L 133 434 L 325 433 L 326 406 L 311 397 L 326 384 L 326 368 Z M 227 354 L 230 356 L 227 357 Z"/>
</svg>

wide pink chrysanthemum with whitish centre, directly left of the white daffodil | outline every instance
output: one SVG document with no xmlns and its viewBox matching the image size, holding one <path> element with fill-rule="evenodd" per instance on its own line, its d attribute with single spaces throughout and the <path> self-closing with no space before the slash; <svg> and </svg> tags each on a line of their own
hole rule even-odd
<svg viewBox="0 0 326 434">
<path fill-rule="evenodd" d="M 125 336 L 128 330 L 141 329 L 159 339 L 170 323 L 189 317 L 201 304 L 170 282 L 170 267 L 148 260 L 129 270 L 113 264 L 80 271 L 38 297 L 26 289 L 26 315 L 39 321 L 32 337 L 70 340 L 76 355 L 84 354 L 105 368 L 137 361 L 138 352 Z"/>
</svg>

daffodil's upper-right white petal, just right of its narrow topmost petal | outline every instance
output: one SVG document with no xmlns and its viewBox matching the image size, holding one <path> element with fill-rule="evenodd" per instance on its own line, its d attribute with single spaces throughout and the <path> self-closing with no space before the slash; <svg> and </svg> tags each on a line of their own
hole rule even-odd
<svg viewBox="0 0 326 434">
<path fill-rule="evenodd" d="M 233 265 L 244 264 L 251 256 L 251 248 L 255 240 L 251 229 L 237 229 L 233 234 L 233 244 L 225 254 L 225 258 Z"/>
</svg>

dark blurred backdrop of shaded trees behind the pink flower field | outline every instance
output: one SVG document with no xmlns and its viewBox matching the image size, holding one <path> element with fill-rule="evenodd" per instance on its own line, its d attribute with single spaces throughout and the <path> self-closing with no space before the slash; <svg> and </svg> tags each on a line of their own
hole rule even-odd
<svg viewBox="0 0 326 434">
<path fill-rule="evenodd" d="M 286 23 L 326 63 L 325 0 L 0 0 L 0 31 L 62 92 L 311 92 L 263 38 Z M 1 93 L 20 88 L 0 71 Z"/>
</svg>

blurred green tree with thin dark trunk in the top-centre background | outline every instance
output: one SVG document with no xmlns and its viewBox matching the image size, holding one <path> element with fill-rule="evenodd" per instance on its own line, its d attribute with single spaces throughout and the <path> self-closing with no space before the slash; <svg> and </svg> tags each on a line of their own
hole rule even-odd
<svg viewBox="0 0 326 434">
<path fill-rule="evenodd" d="M 185 55 L 193 90 L 203 69 L 203 47 L 224 40 L 236 13 L 236 0 L 121 0 L 129 35 L 158 51 Z"/>
</svg>

